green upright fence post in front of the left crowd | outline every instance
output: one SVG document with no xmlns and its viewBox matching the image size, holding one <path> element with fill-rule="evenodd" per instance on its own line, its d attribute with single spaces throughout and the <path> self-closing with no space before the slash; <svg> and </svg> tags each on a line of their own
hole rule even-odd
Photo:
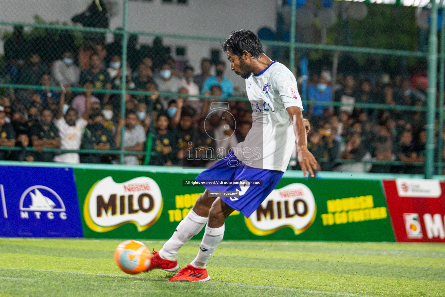
<svg viewBox="0 0 445 297">
<path fill-rule="evenodd" d="M 125 73 L 127 72 L 127 41 L 128 41 L 128 33 L 127 33 L 127 4 L 128 0 L 124 0 L 124 6 L 122 9 L 122 57 L 121 57 L 121 119 L 125 119 L 125 95 L 126 95 L 126 85 L 127 85 L 127 76 Z M 124 163 L 124 132 L 125 126 L 122 127 L 121 133 L 121 154 L 119 158 L 119 163 Z"/>
</svg>

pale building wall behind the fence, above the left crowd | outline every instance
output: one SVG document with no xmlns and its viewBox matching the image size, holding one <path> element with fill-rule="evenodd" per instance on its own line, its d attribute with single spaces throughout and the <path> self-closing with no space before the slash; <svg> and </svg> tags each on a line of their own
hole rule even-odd
<svg viewBox="0 0 445 297">
<path fill-rule="evenodd" d="M 176 0 L 174 0 L 175 2 Z M 122 1 L 114 1 L 117 14 L 110 19 L 110 28 L 122 25 Z M 47 21 L 68 21 L 85 10 L 91 0 L 0 0 L 0 20 L 33 23 L 36 14 Z M 207 37 L 228 37 L 231 31 L 248 28 L 254 32 L 263 26 L 275 30 L 276 0 L 188 0 L 188 4 L 164 4 L 162 0 L 129 1 L 128 30 L 174 33 Z M 0 27 L 1 28 L 1 27 Z M 6 29 L 5 27 L 2 29 Z M 151 42 L 140 37 L 139 42 Z M 112 37 L 108 36 L 108 41 Z M 202 57 L 210 57 L 210 49 L 219 49 L 218 42 L 164 39 L 172 45 L 186 46 L 186 59 L 199 71 Z M 3 46 L 1 46 L 3 51 Z M 227 76 L 244 90 L 244 80 L 234 73 Z"/>
</svg>

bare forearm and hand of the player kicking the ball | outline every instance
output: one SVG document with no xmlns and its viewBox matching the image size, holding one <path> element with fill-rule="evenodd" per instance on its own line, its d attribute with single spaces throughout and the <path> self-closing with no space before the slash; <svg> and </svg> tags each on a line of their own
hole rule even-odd
<svg viewBox="0 0 445 297">
<path fill-rule="evenodd" d="M 295 138 L 297 140 L 297 155 L 298 162 L 300 164 L 303 175 L 307 177 L 307 171 L 309 175 L 314 177 L 314 170 L 317 169 L 317 161 L 311 152 L 307 149 L 306 139 L 306 125 L 309 123 L 304 120 L 301 110 L 297 106 L 290 106 L 287 109 L 289 117 L 291 117 L 292 126 L 294 126 Z"/>
</svg>

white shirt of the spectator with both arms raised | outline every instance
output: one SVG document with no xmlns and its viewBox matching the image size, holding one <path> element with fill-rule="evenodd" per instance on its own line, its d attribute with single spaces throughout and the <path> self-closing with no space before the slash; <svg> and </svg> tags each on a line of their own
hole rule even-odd
<svg viewBox="0 0 445 297">
<path fill-rule="evenodd" d="M 81 147 L 82 133 L 88 124 L 84 118 L 78 118 L 74 126 L 69 126 L 65 118 L 55 119 L 54 125 L 59 130 L 61 148 L 65 150 L 78 150 Z M 54 157 L 54 162 L 79 163 L 79 154 L 65 153 Z"/>
</svg>

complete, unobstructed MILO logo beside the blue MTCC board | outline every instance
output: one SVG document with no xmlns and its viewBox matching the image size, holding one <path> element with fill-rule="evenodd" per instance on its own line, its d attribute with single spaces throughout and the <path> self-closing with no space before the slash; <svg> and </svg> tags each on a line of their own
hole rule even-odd
<svg viewBox="0 0 445 297">
<path fill-rule="evenodd" d="M 83 212 L 86 224 L 93 231 L 108 232 L 133 223 L 141 232 L 158 220 L 162 206 L 161 190 L 153 179 L 142 176 L 116 183 L 108 176 L 91 187 Z"/>
</svg>

